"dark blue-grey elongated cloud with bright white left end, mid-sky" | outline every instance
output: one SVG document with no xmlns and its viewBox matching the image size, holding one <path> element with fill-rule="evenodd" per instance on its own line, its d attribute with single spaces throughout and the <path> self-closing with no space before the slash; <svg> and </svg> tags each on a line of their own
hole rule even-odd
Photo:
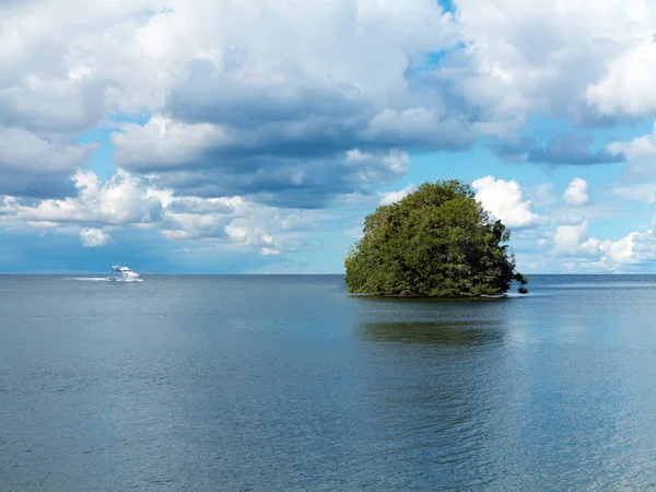
<svg viewBox="0 0 656 492">
<path fill-rule="evenodd" d="M 407 152 L 396 149 L 354 148 L 326 155 L 296 149 L 298 155 L 285 155 L 277 153 L 279 142 L 258 142 L 248 132 L 162 117 L 143 127 L 125 125 L 112 139 L 117 164 L 132 173 L 155 174 L 162 187 L 180 195 L 249 196 L 290 208 L 326 207 L 336 196 L 389 184 L 410 166 Z"/>
</svg>

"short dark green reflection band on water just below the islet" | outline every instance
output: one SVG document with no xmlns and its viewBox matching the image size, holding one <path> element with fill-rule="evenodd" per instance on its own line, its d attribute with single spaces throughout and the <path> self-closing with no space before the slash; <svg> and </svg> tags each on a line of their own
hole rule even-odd
<svg viewBox="0 0 656 492">
<path fill-rule="evenodd" d="M 499 321 L 364 323 L 364 338 L 379 342 L 489 345 L 504 341 Z"/>
</svg>

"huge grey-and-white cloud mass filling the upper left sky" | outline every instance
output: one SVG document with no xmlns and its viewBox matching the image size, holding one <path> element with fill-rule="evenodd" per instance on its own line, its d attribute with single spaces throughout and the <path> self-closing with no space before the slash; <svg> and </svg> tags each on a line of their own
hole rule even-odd
<svg viewBox="0 0 656 492">
<path fill-rule="evenodd" d="M 35 0 L 0 9 L 0 125 L 59 145 L 113 116 L 155 115 L 113 136 L 117 164 L 161 174 L 178 194 L 325 207 L 362 186 L 362 169 L 344 164 L 349 151 L 383 161 L 475 140 L 472 121 L 406 81 L 423 54 L 456 43 L 452 16 L 426 0 L 118 0 L 97 9 Z M 58 183 L 80 166 L 69 161 Z M 31 194 L 28 173 L 15 174 L 2 192 Z M 364 174 L 389 183 L 384 172 Z"/>
</svg>

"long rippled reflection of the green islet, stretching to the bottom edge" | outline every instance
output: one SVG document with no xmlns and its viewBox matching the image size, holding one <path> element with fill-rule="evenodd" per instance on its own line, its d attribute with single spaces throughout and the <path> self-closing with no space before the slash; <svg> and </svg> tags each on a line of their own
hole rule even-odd
<svg viewBox="0 0 656 492">
<path fill-rule="evenodd" d="M 431 315 L 412 307 L 413 316 Z M 385 470 L 402 462 L 417 490 L 484 488 L 480 467 L 494 462 L 497 447 L 503 456 L 517 447 L 512 436 L 511 449 L 491 436 L 505 415 L 513 415 L 506 406 L 512 386 L 503 383 L 508 326 L 500 318 L 462 319 L 476 314 L 459 311 L 460 319 L 443 309 L 446 320 L 356 325 L 364 367 L 362 420 L 378 450 L 376 465 Z M 494 408 L 503 411 L 492 414 Z M 454 464 L 469 462 L 477 466 L 454 473 Z"/>
</svg>

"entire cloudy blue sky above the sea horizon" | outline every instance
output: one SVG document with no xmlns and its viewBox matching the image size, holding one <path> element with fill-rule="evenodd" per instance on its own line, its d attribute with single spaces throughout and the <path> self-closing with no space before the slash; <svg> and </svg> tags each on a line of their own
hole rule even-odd
<svg viewBox="0 0 656 492">
<path fill-rule="evenodd" d="M 460 179 L 523 273 L 656 273 L 649 0 L 0 0 L 0 273 L 342 273 Z"/>
</svg>

